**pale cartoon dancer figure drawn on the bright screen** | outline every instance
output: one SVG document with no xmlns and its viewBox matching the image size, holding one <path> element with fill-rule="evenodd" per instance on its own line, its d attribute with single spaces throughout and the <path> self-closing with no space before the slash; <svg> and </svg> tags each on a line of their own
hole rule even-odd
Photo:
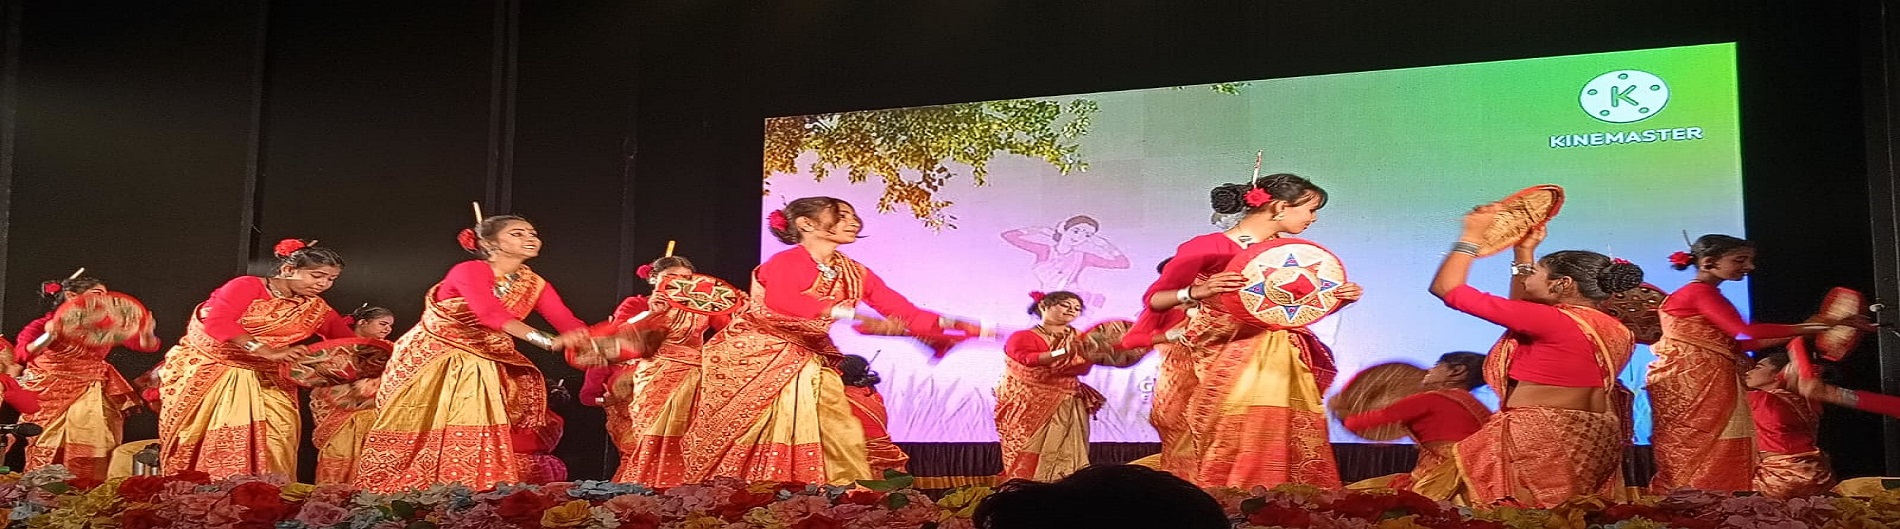
<svg viewBox="0 0 1900 529">
<path fill-rule="evenodd" d="M 1062 221 L 1062 230 L 1049 226 L 1015 228 L 1003 232 L 1003 240 L 1036 255 L 1036 264 L 1030 264 L 1030 270 L 1036 272 L 1043 291 L 1075 291 L 1083 303 L 1102 304 L 1102 295 L 1077 289 L 1081 270 L 1091 266 L 1129 268 L 1129 255 L 1106 238 L 1098 238 L 1100 230 L 1102 223 L 1096 223 L 1094 217 L 1075 215 Z"/>
</svg>

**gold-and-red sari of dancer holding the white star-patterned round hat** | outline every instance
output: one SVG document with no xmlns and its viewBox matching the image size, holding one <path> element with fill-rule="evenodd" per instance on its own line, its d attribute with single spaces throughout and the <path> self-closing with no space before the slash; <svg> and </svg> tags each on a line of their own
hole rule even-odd
<svg viewBox="0 0 1900 529">
<path fill-rule="evenodd" d="M 1199 381 L 1188 402 L 1197 485 L 1341 485 L 1324 411 L 1338 371 L 1311 331 L 1269 331 L 1203 304 L 1168 354 L 1184 352 Z"/>
</svg>

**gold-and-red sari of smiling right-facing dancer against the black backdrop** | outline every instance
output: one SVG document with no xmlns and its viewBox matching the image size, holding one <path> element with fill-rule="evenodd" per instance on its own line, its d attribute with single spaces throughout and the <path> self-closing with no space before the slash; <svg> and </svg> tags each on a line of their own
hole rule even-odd
<svg viewBox="0 0 1900 529">
<path fill-rule="evenodd" d="M 502 293 L 502 308 L 517 320 L 528 316 L 545 285 L 522 266 Z M 513 337 L 481 325 L 466 299 L 435 299 L 437 289 L 441 284 L 424 297 L 422 320 L 395 341 L 384 367 L 376 421 L 357 459 L 361 489 L 519 481 L 511 426 L 547 421 L 542 369 L 515 350 Z"/>
</svg>

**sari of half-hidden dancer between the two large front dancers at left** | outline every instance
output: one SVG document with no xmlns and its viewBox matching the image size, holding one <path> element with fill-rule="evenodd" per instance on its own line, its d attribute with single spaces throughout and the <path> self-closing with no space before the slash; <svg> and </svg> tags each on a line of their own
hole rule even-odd
<svg viewBox="0 0 1900 529">
<path fill-rule="evenodd" d="M 380 384 L 382 379 L 361 379 L 310 390 L 310 417 L 317 422 L 315 432 L 310 434 L 310 441 L 317 445 L 317 485 L 355 481 L 363 438 L 376 422 L 376 388 Z"/>
</svg>

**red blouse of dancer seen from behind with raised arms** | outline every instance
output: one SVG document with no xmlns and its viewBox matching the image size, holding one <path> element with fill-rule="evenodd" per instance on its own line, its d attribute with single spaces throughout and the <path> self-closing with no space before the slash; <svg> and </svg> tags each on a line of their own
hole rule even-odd
<svg viewBox="0 0 1900 529">
<path fill-rule="evenodd" d="M 1509 377 L 1512 381 L 1602 388 L 1604 379 L 1609 377 L 1596 362 L 1596 344 L 1562 308 L 1503 299 L 1471 285 L 1448 291 L 1444 306 L 1505 325 L 1509 335 L 1518 341 L 1518 350 L 1510 360 Z"/>
</svg>

